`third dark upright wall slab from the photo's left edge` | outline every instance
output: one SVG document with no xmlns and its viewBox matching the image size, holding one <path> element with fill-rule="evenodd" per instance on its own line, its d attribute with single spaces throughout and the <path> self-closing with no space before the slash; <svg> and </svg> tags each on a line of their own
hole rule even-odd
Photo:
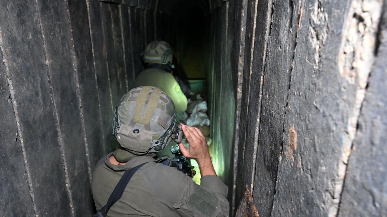
<svg viewBox="0 0 387 217">
<path fill-rule="evenodd" d="M 86 153 L 85 131 L 82 110 L 79 104 L 77 68 L 73 65 L 72 34 L 65 2 L 52 4 L 39 0 L 38 9 L 45 42 L 46 63 L 52 85 L 55 116 L 60 132 L 60 146 L 68 175 L 68 188 L 71 191 L 75 215 L 90 215 L 93 203 L 84 195 L 91 195 Z M 79 176 L 78 174 L 83 174 Z M 86 187 L 88 186 L 88 187 Z"/>
</svg>

